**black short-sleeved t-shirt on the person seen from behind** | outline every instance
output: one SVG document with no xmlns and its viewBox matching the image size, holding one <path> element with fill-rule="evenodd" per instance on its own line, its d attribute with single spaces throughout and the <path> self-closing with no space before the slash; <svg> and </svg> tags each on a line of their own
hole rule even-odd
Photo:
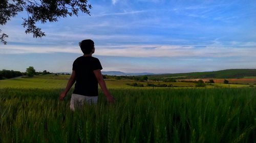
<svg viewBox="0 0 256 143">
<path fill-rule="evenodd" d="M 92 56 L 80 56 L 73 63 L 76 72 L 76 83 L 74 94 L 84 96 L 98 96 L 98 81 L 94 75 L 94 70 L 102 70 L 97 58 Z"/>
</svg>

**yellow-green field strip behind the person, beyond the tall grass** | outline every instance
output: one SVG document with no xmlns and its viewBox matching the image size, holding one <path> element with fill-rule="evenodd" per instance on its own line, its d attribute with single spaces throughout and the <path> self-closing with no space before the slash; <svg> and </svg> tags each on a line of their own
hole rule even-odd
<svg viewBox="0 0 256 143">
<path fill-rule="evenodd" d="M 70 75 L 39 75 L 33 78 L 14 78 L 0 80 L 0 88 L 38 88 L 38 89 L 59 89 L 65 88 Z M 138 82 L 132 80 L 106 80 L 106 84 L 110 89 L 141 89 L 131 87 L 126 83 L 137 82 L 147 85 L 147 82 Z M 195 83 L 191 82 L 150 82 L 154 84 L 173 84 L 177 87 L 193 87 Z M 144 88 L 151 89 L 151 88 Z"/>
</svg>

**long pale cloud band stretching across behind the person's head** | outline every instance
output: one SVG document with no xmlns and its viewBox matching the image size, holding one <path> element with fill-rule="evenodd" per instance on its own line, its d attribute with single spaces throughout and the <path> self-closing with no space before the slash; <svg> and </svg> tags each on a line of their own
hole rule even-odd
<svg viewBox="0 0 256 143">
<path fill-rule="evenodd" d="M 241 45 L 241 43 L 240 43 Z M 256 43 L 242 43 L 247 47 L 238 46 L 177 46 L 177 45 L 98 45 L 96 55 L 126 57 L 231 57 L 256 56 Z M 241 45 L 241 46 L 242 46 Z M 81 53 L 78 46 L 6 46 L 0 53 Z"/>
</svg>

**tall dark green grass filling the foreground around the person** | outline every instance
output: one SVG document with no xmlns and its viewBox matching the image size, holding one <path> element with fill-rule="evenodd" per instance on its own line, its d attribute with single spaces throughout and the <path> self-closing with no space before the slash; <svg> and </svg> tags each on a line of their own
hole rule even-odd
<svg viewBox="0 0 256 143">
<path fill-rule="evenodd" d="M 0 142 L 255 142 L 256 89 L 111 90 L 69 109 L 61 90 L 1 89 Z"/>
</svg>

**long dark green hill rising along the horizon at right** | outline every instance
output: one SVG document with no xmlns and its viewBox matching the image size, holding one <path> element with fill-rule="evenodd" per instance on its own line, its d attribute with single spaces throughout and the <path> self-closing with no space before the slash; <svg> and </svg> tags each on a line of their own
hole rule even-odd
<svg viewBox="0 0 256 143">
<path fill-rule="evenodd" d="M 191 72 L 175 74 L 150 75 L 148 79 L 155 78 L 243 78 L 245 76 L 256 76 L 256 69 L 228 69 L 211 72 Z"/>
</svg>

